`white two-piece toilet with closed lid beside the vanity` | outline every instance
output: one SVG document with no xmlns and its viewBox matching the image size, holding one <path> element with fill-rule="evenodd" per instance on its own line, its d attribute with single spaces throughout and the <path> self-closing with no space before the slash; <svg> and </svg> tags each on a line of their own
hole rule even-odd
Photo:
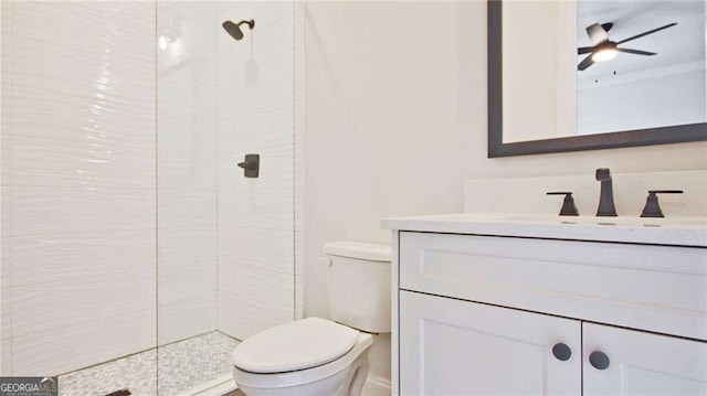
<svg viewBox="0 0 707 396">
<path fill-rule="evenodd" d="M 335 322 L 307 318 L 262 331 L 233 351 L 249 396 L 360 395 L 376 333 L 390 332 L 390 246 L 324 245 Z"/>
</svg>

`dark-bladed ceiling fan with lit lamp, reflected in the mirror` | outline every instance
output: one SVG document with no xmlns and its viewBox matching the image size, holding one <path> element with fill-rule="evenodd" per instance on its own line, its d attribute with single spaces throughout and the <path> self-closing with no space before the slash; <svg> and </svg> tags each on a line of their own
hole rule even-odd
<svg viewBox="0 0 707 396">
<path fill-rule="evenodd" d="M 625 52 L 629 54 L 645 55 L 645 56 L 657 55 L 655 52 L 619 47 L 619 44 L 623 44 L 632 40 L 636 40 L 636 39 L 646 36 L 648 34 L 659 32 L 667 28 L 673 28 L 676 24 L 677 23 L 675 22 L 668 23 L 665 26 L 653 29 L 647 32 L 643 32 L 641 34 L 631 36 L 629 39 L 614 42 L 609 40 L 609 31 L 611 30 L 611 28 L 614 26 L 613 23 L 602 23 L 602 24 L 594 23 L 587 28 L 587 35 L 589 35 L 589 39 L 592 41 L 592 43 L 594 43 L 594 46 L 580 46 L 579 49 L 577 49 L 578 55 L 589 54 L 587 57 L 582 60 L 582 62 L 579 63 L 579 65 L 577 65 L 577 68 L 581 72 L 597 62 L 611 61 L 614 57 L 616 57 L 616 54 L 619 52 Z"/>
</svg>

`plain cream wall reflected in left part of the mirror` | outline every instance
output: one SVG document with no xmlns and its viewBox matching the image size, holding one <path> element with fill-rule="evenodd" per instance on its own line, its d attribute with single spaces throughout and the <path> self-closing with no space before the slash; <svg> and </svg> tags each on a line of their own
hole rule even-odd
<svg viewBox="0 0 707 396">
<path fill-rule="evenodd" d="M 577 131 L 576 1 L 508 1 L 503 7 L 504 141 Z M 532 126 L 532 128 L 530 128 Z"/>
</svg>

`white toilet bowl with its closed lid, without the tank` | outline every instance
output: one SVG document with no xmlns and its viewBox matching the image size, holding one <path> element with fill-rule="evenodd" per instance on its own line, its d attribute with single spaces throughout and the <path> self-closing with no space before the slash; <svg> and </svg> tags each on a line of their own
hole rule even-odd
<svg viewBox="0 0 707 396">
<path fill-rule="evenodd" d="M 331 321 L 298 320 L 244 341 L 233 352 L 233 378 L 249 396 L 359 395 L 372 343 L 372 334 Z"/>
</svg>

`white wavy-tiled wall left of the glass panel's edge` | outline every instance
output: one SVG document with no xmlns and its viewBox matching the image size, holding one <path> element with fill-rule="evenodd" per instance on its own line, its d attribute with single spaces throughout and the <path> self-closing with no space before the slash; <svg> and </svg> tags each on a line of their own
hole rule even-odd
<svg viewBox="0 0 707 396">
<path fill-rule="evenodd" d="M 155 346 L 154 36 L 150 2 L 2 2 L 1 375 Z"/>
</svg>

